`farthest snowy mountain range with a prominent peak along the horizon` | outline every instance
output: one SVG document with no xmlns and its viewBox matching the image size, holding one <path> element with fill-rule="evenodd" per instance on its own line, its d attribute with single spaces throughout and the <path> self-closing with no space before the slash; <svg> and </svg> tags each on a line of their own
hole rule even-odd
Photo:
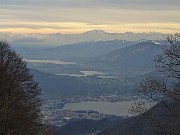
<svg viewBox="0 0 180 135">
<path fill-rule="evenodd" d="M 0 32 L 0 39 L 6 39 L 14 46 L 29 47 L 50 47 L 66 44 L 75 44 L 89 41 L 108 41 L 108 40 L 164 40 L 167 34 L 157 32 L 147 33 L 108 33 L 102 30 L 92 30 L 80 34 L 15 34 Z"/>
</svg>

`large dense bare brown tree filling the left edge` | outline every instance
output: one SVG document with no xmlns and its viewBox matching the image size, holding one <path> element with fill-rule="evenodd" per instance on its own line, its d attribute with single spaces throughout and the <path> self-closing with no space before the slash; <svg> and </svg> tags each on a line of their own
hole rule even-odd
<svg viewBox="0 0 180 135">
<path fill-rule="evenodd" d="M 37 135 L 44 132 L 41 101 L 40 88 L 26 62 L 6 41 L 1 41 L 0 134 Z"/>
</svg>

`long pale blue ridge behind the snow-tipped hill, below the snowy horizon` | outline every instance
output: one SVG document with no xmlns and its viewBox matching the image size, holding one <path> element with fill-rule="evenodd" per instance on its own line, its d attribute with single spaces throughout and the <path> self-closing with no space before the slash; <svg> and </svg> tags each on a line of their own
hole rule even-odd
<svg viewBox="0 0 180 135">
<path fill-rule="evenodd" d="M 99 57 L 132 44 L 134 42 L 124 40 L 89 41 L 38 50 L 17 48 L 17 51 L 25 58 L 88 58 Z"/>
</svg>

